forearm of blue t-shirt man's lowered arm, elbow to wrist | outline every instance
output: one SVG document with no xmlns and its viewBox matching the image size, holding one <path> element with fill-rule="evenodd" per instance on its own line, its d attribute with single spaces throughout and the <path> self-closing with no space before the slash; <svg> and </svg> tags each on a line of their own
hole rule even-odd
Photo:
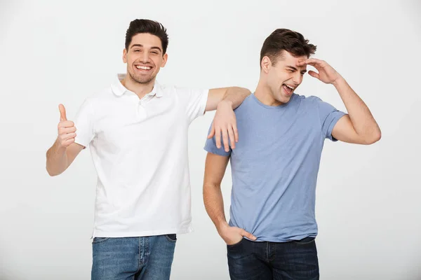
<svg viewBox="0 0 421 280">
<path fill-rule="evenodd" d="M 203 202 L 206 212 L 212 220 L 218 232 L 224 226 L 228 225 L 224 212 L 224 200 L 220 186 L 212 183 L 204 183 L 203 185 Z"/>
</svg>

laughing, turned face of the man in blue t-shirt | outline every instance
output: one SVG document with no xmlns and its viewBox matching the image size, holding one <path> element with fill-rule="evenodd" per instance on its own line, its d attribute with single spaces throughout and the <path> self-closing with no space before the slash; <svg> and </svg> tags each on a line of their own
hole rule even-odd
<svg viewBox="0 0 421 280">
<path fill-rule="evenodd" d="M 282 50 L 274 62 L 269 57 L 262 59 L 262 71 L 265 73 L 266 85 L 273 99 L 281 104 L 288 103 L 293 92 L 302 83 L 307 67 L 298 66 L 298 62 L 307 59 L 307 55 L 295 57 Z"/>
</svg>

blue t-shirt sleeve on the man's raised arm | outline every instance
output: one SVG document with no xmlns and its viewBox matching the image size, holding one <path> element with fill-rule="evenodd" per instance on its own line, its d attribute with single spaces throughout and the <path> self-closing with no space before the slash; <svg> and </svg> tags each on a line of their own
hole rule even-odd
<svg viewBox="0 0 421 280">
<path fill-rule="evenodd" d="M 325 137 L 325 139 L 330 139 L 331 141 L 338 141 L 338 139 L 335 139 L 335 137 L 332 136 L 332 130 L 336 123 L 338 123 L 338 120 L 347 113 L 339 111 L 327 102 L 323 102 L 319 97 L 316 97 L 316 104 L 319 111 L 321 133 L 323 134 L 323 137 Z"/>
</svg>

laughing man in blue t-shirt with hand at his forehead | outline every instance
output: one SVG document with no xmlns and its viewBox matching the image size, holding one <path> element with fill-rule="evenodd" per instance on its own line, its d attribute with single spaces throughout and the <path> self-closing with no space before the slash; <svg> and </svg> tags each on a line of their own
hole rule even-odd
<svg viewBox="0 0 421 280">
<path fill-rule="evenodd" d="M 328 63 L 309 58 L 316 46 L 302 34 L 276 29 L 260 52 L 255 92 L 235 110 L 237 127 L 208 138 L 203 200 L 227 243 L 231 279 L 319 279 L 314 214 L 325 139 L 373 144 L 380 128 L 359 96 Z M 309 75 L 332 84 L 348 113 L 318 97 L 295 93 Z M 238 132 L 240 141 L 236 142 Z M 227 223 L 220 183 L 231 160 Z"/>
</svg>

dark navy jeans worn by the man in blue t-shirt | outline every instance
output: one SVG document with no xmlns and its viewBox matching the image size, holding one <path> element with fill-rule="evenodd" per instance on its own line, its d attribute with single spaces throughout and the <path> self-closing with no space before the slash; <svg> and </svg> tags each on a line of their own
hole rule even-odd
<svg viewBox="0 0 421 280">
<path fill-rule="evenodd" d="M 227 246 L 231 279 L 319 279 L 319 260 L 313 237 L 289 242 L 242 239 Z"/>
</svg>

